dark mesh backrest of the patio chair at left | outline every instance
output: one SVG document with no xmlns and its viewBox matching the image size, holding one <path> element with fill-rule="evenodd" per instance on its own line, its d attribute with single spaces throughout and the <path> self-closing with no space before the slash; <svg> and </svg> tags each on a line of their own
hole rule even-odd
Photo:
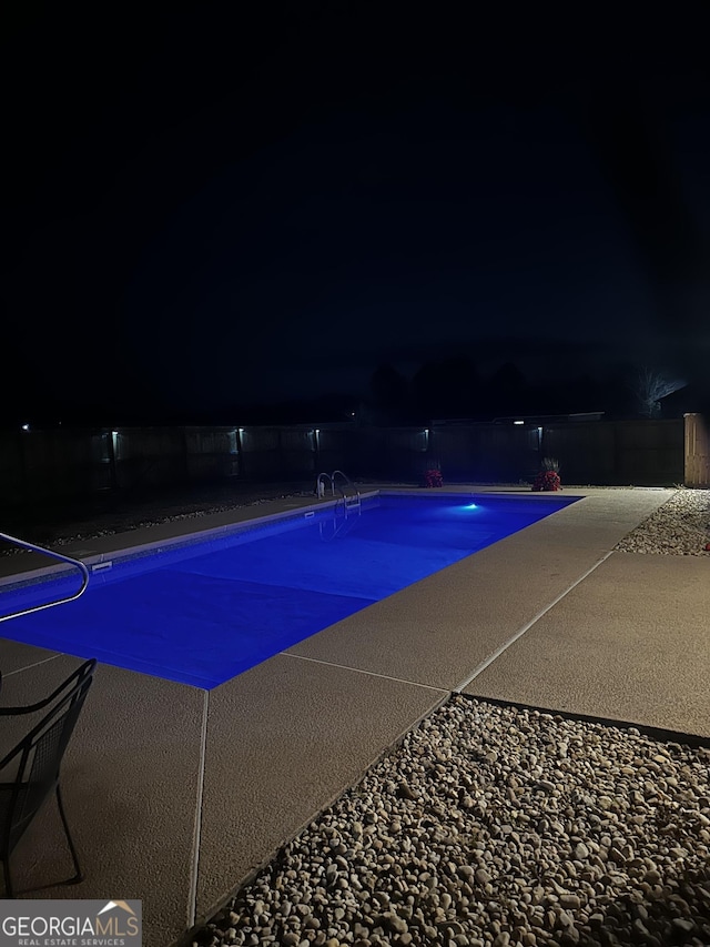
<svg viewBox="0 0 710 947">
<path fill-rule="evenodd" d="M 95 661 L 87 662 L 54 692 L 59 694 L 65 691 L 68 684 L 72 685 L 0 763 L 0 767 L 11 760 L 16 760 L 17 765 L 10 804 L 6 812 L 7 820 L 2 827 L 2 848 L 8 854 L 59 783 L 62 757 L 87 699 L 94 666 Z M 41 705 L 45 703 L 40 702 Z M 26 708 L 18 709 L 23 712 Z"/>
</svg>

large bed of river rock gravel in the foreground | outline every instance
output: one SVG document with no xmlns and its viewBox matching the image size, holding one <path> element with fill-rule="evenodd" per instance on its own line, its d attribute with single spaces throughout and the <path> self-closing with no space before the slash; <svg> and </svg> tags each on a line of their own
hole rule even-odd
<svg viewBox="0 0 710 947">
<path fill-rule="evenodd" d="M 452 695 L 194 943 L 708 945 L 709 764 Z"/>
</svg>

